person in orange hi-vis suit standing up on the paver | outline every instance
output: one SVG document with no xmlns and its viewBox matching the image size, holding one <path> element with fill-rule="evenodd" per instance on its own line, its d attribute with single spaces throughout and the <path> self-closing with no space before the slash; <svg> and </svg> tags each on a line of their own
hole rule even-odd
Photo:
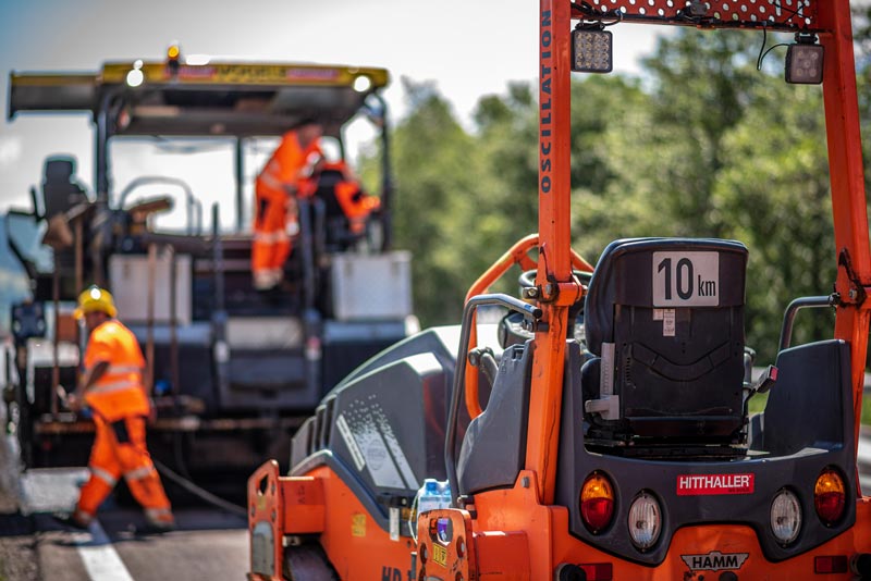
<svg viewBox="0 0 871 581">
<path fill-rule="evenodd" d="M 259 290 L 277 287 L 284 276 L 291 236 L 298 231 L 296 198 L 314 191 L 311 175 L 323 159 L 322 134 L 319 124 L 303 121 L 284 134 L 257 176 L 252 273 L 254 286 Z"/>
</svg>

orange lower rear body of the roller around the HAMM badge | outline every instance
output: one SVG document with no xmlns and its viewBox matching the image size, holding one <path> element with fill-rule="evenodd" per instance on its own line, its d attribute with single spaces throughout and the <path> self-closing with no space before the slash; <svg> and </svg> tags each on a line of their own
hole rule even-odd
<svg viewBox="0 0 871 581">
<path fill-rule="evenodd" d="M 719 576 L 726 570 L 737 573 L 739 579 L 807 579 L 814 577 L 814 558 L 818 556 L 845 556 L 849 559 L 859 553 L 871 553 L 871 529 L 860 524 L 871 522 L 871 502 L 862 498 L 857 504 L 856 527 L 813 551 L 781 563 L 764 557 L 756 532 L 749 527 L 708 524 L 679 529 L 672 539 L 665 560 L 650 567 L 619 559 L 568 534 L 568 510 L 539 504 L 539 493 L 535 486 L 533 474 L 524 471 L 514 489 L 475 496 L 475 506 L 470 510 L 475 511 L 477 518 L 473 520 L 467 517 L 466 527 L 471 526 L 476 540 L 475 559 L 480 565 L 477 573 L 464 568 L 464 579 L 475 579 L 476 574 L 481 574 L 481 579 L 516 579 L 518 577 L 514 576 L 518 572 L 527 574 L 524 560 L 527 557 L 529 579 L 552 579 L 554 570 L 562 564 L 610 564 L 613 579 L 710 579 L 712 573 Z M 440 511 L 438 516 L 441 514 L 469 512 Z M 812 518 L 810 515 L 808 517 Z M 514 535 L 516 544 L 510 557 L 505 557 L 505 545 L 477 542 L 480 539 L 498 539 L 500 534 Z M 527 543 L 526 547 L 523 542 Z M 493 574 L 483 577 L 482 564 L 495 560 L 498 556 L 511 558 L 516 565 L 512 570 L 507 570 L 507 567 L 496 567 L 496 571 L 490 569 Z M 715 567 L 720 567 L 720 570 L 712 570 Z M 429 574 L 430 569 L 427 572 Z M 851 578 L 852 573 L 844 573 L 826 579 Z"/>
</svg>

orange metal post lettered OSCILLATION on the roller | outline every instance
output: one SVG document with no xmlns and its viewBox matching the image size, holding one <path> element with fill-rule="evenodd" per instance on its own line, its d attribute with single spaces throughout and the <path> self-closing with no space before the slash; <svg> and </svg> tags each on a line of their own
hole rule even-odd
<svg viewBox="0 0 871 581">
<path fill-rule="evenodd" d="M 579 298 L 572 282 L 571 58 L 572 4 L 541 0 L 539 32 L 539 259 L 543 329 L 536 333 L 526 468 L 536 474 L 541 502 L 551 504 L 562 407 L 568 306 Z M 571 292 L 575 286 L 574 293 Z"/>
</svg>

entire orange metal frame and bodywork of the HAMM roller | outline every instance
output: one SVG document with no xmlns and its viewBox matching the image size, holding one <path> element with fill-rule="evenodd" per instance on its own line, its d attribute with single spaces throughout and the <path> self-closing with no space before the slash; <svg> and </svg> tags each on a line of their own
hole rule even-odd
<svg viewBox="0 0 871 581">
<path fill-rule="evenodd" d="M 761 23 L 740 20 L 739 7 L 752 4 L 762 13 L 762 8 L 772 5 L 769 2 L 783 1 L 727 0 L 715 8 L 708 3 L 715 18 L 695 22 L 682 20 L 677 14 L 690 5 L 690 0 L 587 0 L 585 9 L 617 8 L 623 11 L 621 20 L 625 22 L 759 28 Z M 802 22 L 792 29 L 801 27 L 818 35 L 829 63 L 823 92 L 838 261 L 835 289 L 841 296 L 834 336 L 850 346 L 857 420 L 854 436 L 858 440 L 869 330 L 866 297 L 871 290 L 871 251 L 849 2 L 802 0 L 801 10 L 806 11 Z M 765 26 L 789 30 L 789 13 L 777 11 L 776 17 L 766 15 Z M 792 10 L 792 14 L 797 11 Z M 515 244 L 476 281 L 467 296 L 469 301 L 487 293 L 514 264 L 536 269 L 535 296 L 527 298 L 536 299 L 541 310 L 538 322 L 543 324 L 536 325 L 526 456 L 514 486 L 477 492 L 463 508 L 424 512 L 417 520 L 415 545 L 406 536 L 391 537 L 381 530 L 360 499 L 327 467 L 318 466 L 305 477 L 280 477 L 274 462 L 263 465 L 248 482 L 249 527 L 252 531 L 267 530 L 257 541 L 260 563 L 248 574 L 250 580 L 281 579 L 285 572 L 285 543 L 308 536 L 317 537 L 330 567 L 342 579 L 376 579 L 381 574 L 390 581 L 701 579 L 701 571 L 688 570 L 687 564 L 676 556 L 722 557 L 721 551 L 739 551 L 746 555 L 746 563 L 741 561 L 737 571 L 729 571 L 732 577 L 716 572 L 709 576 L 706 569 L 706 578 L 805 579 L 824 569 L 818 559 L 859 555 L 871 558 L 871 497 L 861 496 L 861 491 L 857 491 L 852 527 L 812 551 L 776 564 L 766 559 L 756 531 L 736 523 L 677 529 L 667 556 L 658 565 L 616 557 L 569 534 L 568 508 L 554 505 L 566 329 L 574 324 L 568 320 L 569 308 L 585 292 L 573 269 L 592 270 L 569 246 L 571 29 L 572 20 L 579 16 L 580 1 L 540 0 L 539 234 Z M 538 260 L 528 256 L 533 249 L 538 250 Z M 474 326 L 468 330 L 469 345 L 475 344 Z M 478 371 L 467 368 L 464 376 L 466 407 L 475 417 L 481 412 Z M 404 520 L 408 507 L 402 510 Z M 442 534 L 447 529 L 451 534 Z M 252 551 L 254 557 L 254 545 Z M 839 578 L 850 577 L 851 573 L 844 572 Z"/>
</svg>

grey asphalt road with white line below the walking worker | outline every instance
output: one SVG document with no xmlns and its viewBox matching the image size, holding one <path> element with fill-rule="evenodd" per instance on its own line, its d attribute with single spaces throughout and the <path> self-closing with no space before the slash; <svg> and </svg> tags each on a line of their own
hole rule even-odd
<svg viewBox="0 0 871 581">
<path fill-rule="evenodd" d="M 246 521 L 210 508 L 177 508 L 177 530 L 144 535 L 136 508 L 103 506 L 87 532 L 57 524 L 54 511 L 75 502 L 83 469 L 19 475 L 0 446 L 0 581 L 163 581 L 245 579 Z M 859 446 L 860 481 L 871 494 L 871 430 Z"/>
</svg>

